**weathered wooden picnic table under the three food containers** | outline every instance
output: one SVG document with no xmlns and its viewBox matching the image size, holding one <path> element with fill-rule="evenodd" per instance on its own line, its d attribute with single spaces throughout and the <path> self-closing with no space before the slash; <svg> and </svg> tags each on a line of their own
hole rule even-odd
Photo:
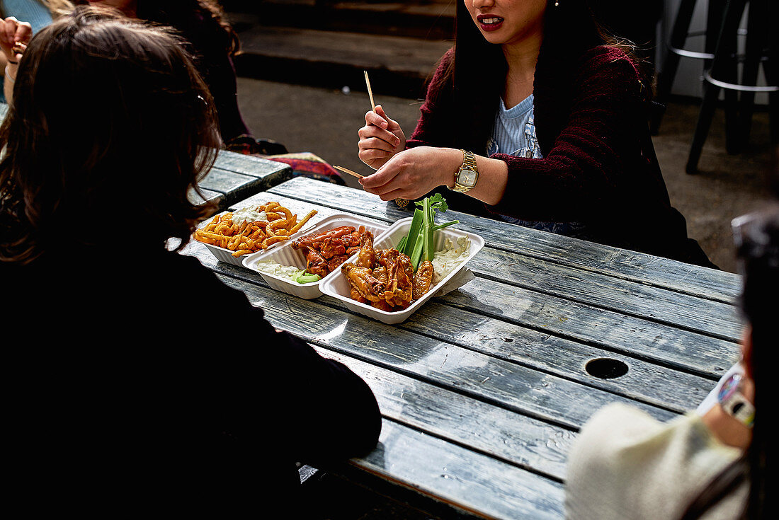
<svg viewBox="0 0 779 520">
<path fill-rule="evenodd" d="M 269 201 L 318 209 L 312 222 L 411 216 L 365 191 L 301 177 L 229 209 Z M 694 409 L 736 360 L 735 274 L 445 216 L 485 238 L 467 265 L 475 279 L 397 325 L 326 295 L 270 289 L 258 272 L 217 262 L 198 242 L 185 248 L 278 329 L 368 382 L 382 410 L 379 445 L 337 473 L 457 515 L 563 518 L 566 455 L 592 413 L 624 402 L 669 420 Z"/>
</svg>

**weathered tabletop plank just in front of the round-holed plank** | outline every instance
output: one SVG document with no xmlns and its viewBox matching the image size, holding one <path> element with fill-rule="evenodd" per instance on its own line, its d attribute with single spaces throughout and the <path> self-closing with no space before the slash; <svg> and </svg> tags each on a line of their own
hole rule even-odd
<svg viewBox="0 0 779 520">
<path fill-rule="evenodd" d="M 262 307 L 275 327 L 309 343 L 326 346 L 422 381 L 464 392 L 539 420 L 576 429 L 594 410 L 609 402 L 639 406 L 660 420 L 676 413 L 622 395 L 587 387 L 506 360 L 489 357 L 412 332 L 398 334 L 393 325 L 344 314 L 317 300 L 301 300 L 242 280 L 224 282 L 246 293 Z M 316 319 L 301 319 L 315 316 Z"/>
</svg>

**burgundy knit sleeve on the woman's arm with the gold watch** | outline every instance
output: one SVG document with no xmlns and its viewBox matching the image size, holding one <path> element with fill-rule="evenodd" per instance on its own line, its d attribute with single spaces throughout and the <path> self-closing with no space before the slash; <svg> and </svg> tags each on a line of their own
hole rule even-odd
<svg viewBox="0 0 779 520">
<path fill-rule="evenodd" d="M 593 52 L 593 51 L 590 51 Z M 591 56 L 576 79 L 566 125 L 543 159 L 503 154 L 506 192 L 495 213 L 529 220 L 580 220 L 612 197 L 640 155 L 645 101 L 639 75 L 624 54 Z M 536 111 L 538 123 L 545 114 Z"/>
</svg>

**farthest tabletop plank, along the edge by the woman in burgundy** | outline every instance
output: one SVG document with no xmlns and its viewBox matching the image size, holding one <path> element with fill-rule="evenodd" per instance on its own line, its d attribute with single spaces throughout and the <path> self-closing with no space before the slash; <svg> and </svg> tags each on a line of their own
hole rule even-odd
<svg viewBox="0 0 779 520">
<path fill-rule="evenodd" d="M 312 184 L 314 182 L 311 179 L 295 178 L 270 191 L 351 213 L 374 216 L 387 222 L 411 216 L 408 209 L 401 209 L 394 202 L 383 202 L 364 191 L 339 186 L 317 186 Z M 560 237 L 512 224 L 497 225 L 492 220 L 465 213 L 452 212 L 451 216 L 460 220 L 460 229 L 480 234 L 492 247 L 575 266 L 577 269 L 601 272 L 615 278 L 665 287 L 725 303 L 734 300 L 741 288 L 741 278 L 729 272 Z"/>
</svg>

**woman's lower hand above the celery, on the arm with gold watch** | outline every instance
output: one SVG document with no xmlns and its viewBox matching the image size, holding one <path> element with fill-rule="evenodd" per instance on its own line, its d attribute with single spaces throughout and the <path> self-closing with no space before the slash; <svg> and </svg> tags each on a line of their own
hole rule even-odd
<svg viewBox="0 0 779 520">
<path fill-rule="evenodd" d="M 458 149 L 419 146 L 396 153 L 375 174 L 362 177 L 360 184 L 382 200 L 418 199 L 443 184 L 453 186 L 454 172 L 462 163 Z"/>
</svg>

